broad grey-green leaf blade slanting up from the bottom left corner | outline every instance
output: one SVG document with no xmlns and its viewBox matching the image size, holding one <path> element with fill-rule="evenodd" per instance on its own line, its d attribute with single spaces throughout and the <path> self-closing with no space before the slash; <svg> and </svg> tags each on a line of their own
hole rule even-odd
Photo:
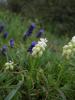
<svg viewBox="0 0 75 100">
<path fill-rule="evenodd" d="M 19 88 L 21 87 L 22 84 L 23 84 L 23 81 L 20 81 L 16 85 L 16 88 L 13 89 L 4 100 L 11 100 L 15 96 L 16 92 L 19 90 Z"/>
</svg>

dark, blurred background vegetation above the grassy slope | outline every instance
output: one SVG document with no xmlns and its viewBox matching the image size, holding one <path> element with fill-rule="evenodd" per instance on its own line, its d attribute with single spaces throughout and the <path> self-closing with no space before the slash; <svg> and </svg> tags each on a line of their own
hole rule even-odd
<svg viewBox="0 0 75 100">
<path fill-rule="evenodd" d="M 42 24 L 53 25 L 54 33 L 75 32 L 74 0 L 8 0 L 8 6 L 12 11 L 21 12 L 22 16 L 38 18 Z"/>
</svg>

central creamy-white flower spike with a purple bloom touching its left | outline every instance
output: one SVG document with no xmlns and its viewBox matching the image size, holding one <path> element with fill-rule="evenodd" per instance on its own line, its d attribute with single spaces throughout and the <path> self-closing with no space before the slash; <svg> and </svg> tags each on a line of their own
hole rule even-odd
<svg viewBox="0 0 75 100">
<path fill-rule="evenodd" d="M 43 54 L 43 51 L 45 50 L 47 46 L 47 39 L 41 38 L 40 41 L 32 48 L 31 55 L 34 57 L 40 57 Z"/>
</svg>

